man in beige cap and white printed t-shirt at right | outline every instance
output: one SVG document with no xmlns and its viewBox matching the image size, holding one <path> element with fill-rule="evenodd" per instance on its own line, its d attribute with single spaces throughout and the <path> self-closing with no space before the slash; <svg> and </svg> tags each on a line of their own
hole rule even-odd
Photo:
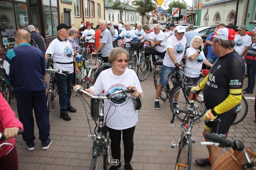
<svg viewBox="0 0 256 170">
<path fill-rule="evenodd" d="M 252 44 L 252 38 L 245 33 L 245 31 L 246 31 L 245 25 L 241 25 L 237 29 L 238 29 L 239 35 L 236 35 L 236 37 L 234 39 L 234 41 L 236 42 L 234 49 L 244 59 L 244 56 L 245 56 L 247 50 L 250 48 L 250 45 Z"/>
</svg>

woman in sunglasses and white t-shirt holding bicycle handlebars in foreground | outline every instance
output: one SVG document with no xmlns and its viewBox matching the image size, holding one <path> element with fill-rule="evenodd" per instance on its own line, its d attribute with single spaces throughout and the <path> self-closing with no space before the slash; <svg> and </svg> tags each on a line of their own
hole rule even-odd
<svg viewBox="0 0 256 170">
<path fill-rule="evenodd" d="M 109 63 L 112 68 L 106 69 L 99 74 L 94 86 L 85 89 L 88 93 L 98 96 L 104 90 L 112 94 L 116 90 L 132 89 L 131 96 L 138 98 L 143 96 L 140 81 L 136 73 L 127 69 L 129 61 L 129 53 L 117 47 L 111 50 L 109 54 Z M 75 86 L 76 90 L 80 85 Z M 104 120 L 108 127 L 111 139 L 111 154 L 113 159 L 119 160 L 118 166 L 111 166 L 110 170 L 121 167 L 121 134 L 123 134 L 124 143 L 124 160 L 125 169 L 132 169 L 130 161 L 133 154 L 133 134 L 135 126 L 138 122 L 138 112 L 134 108 L 134 103 L 131 98 L 122 98 L 118 100 L 109 99 L 104 101 Z"/>
</svg>

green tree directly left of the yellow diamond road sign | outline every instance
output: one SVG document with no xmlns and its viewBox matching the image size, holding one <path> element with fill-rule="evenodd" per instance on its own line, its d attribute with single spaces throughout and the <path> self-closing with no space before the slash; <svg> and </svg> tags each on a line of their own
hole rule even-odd
<svg viewBox="0 0 256 170">
<path fill-rule="evenodd" d="M 134 0 L 132 2 L 134 6 L 137 7 L 136 11 L 144 18 L 144 16 L 151 11 L 156 10 L 156 2 L 152 0 Z M 143 24 L 144 20 L 142 20 Z"/>
</svg>

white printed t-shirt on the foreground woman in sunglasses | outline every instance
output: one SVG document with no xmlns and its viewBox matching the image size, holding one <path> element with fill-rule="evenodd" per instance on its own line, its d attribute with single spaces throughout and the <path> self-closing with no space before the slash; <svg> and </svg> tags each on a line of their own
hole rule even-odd
<svg viewBox="0 0 256 170">
<path fill-rule="evenodd" d="M 90 88 L 98 96 L 102 93 L 102 90 L 104 90 L 105 95 L 112 94 L 115 91 L 126 89 L 129 85 L 134 85 L 137 91 L 142 92 L 140 81 L 133 70 L 125 69 L 122 75 L 115 75 L 112 69 L 106 69 L 100 73 L 94 86 Z M 134 110 L 132 98 L 120 98 L 115 101 L 105 99 L 104 120 L 108 127 L 115 130 L 123 130 L 135 126 L 138 122 L 138 113 Z"/>
</svg>

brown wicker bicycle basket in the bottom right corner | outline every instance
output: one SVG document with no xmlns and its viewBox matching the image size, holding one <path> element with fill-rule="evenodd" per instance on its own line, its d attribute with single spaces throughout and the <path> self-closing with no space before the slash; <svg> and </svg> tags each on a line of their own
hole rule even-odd
<svg viewBox="0 0 256 170">
<path fill-rule="evenodd" d="M 256 163 L 256 153 L 245 148 L 249 157 L 254 164 Z M 212 170 L 240 170 L 243 169 L 242 165 L 247 163 L 243 152 L 234 151 L 231 149 L 222 156 L 220 156 L 214 163 Z"/>
</svg>

